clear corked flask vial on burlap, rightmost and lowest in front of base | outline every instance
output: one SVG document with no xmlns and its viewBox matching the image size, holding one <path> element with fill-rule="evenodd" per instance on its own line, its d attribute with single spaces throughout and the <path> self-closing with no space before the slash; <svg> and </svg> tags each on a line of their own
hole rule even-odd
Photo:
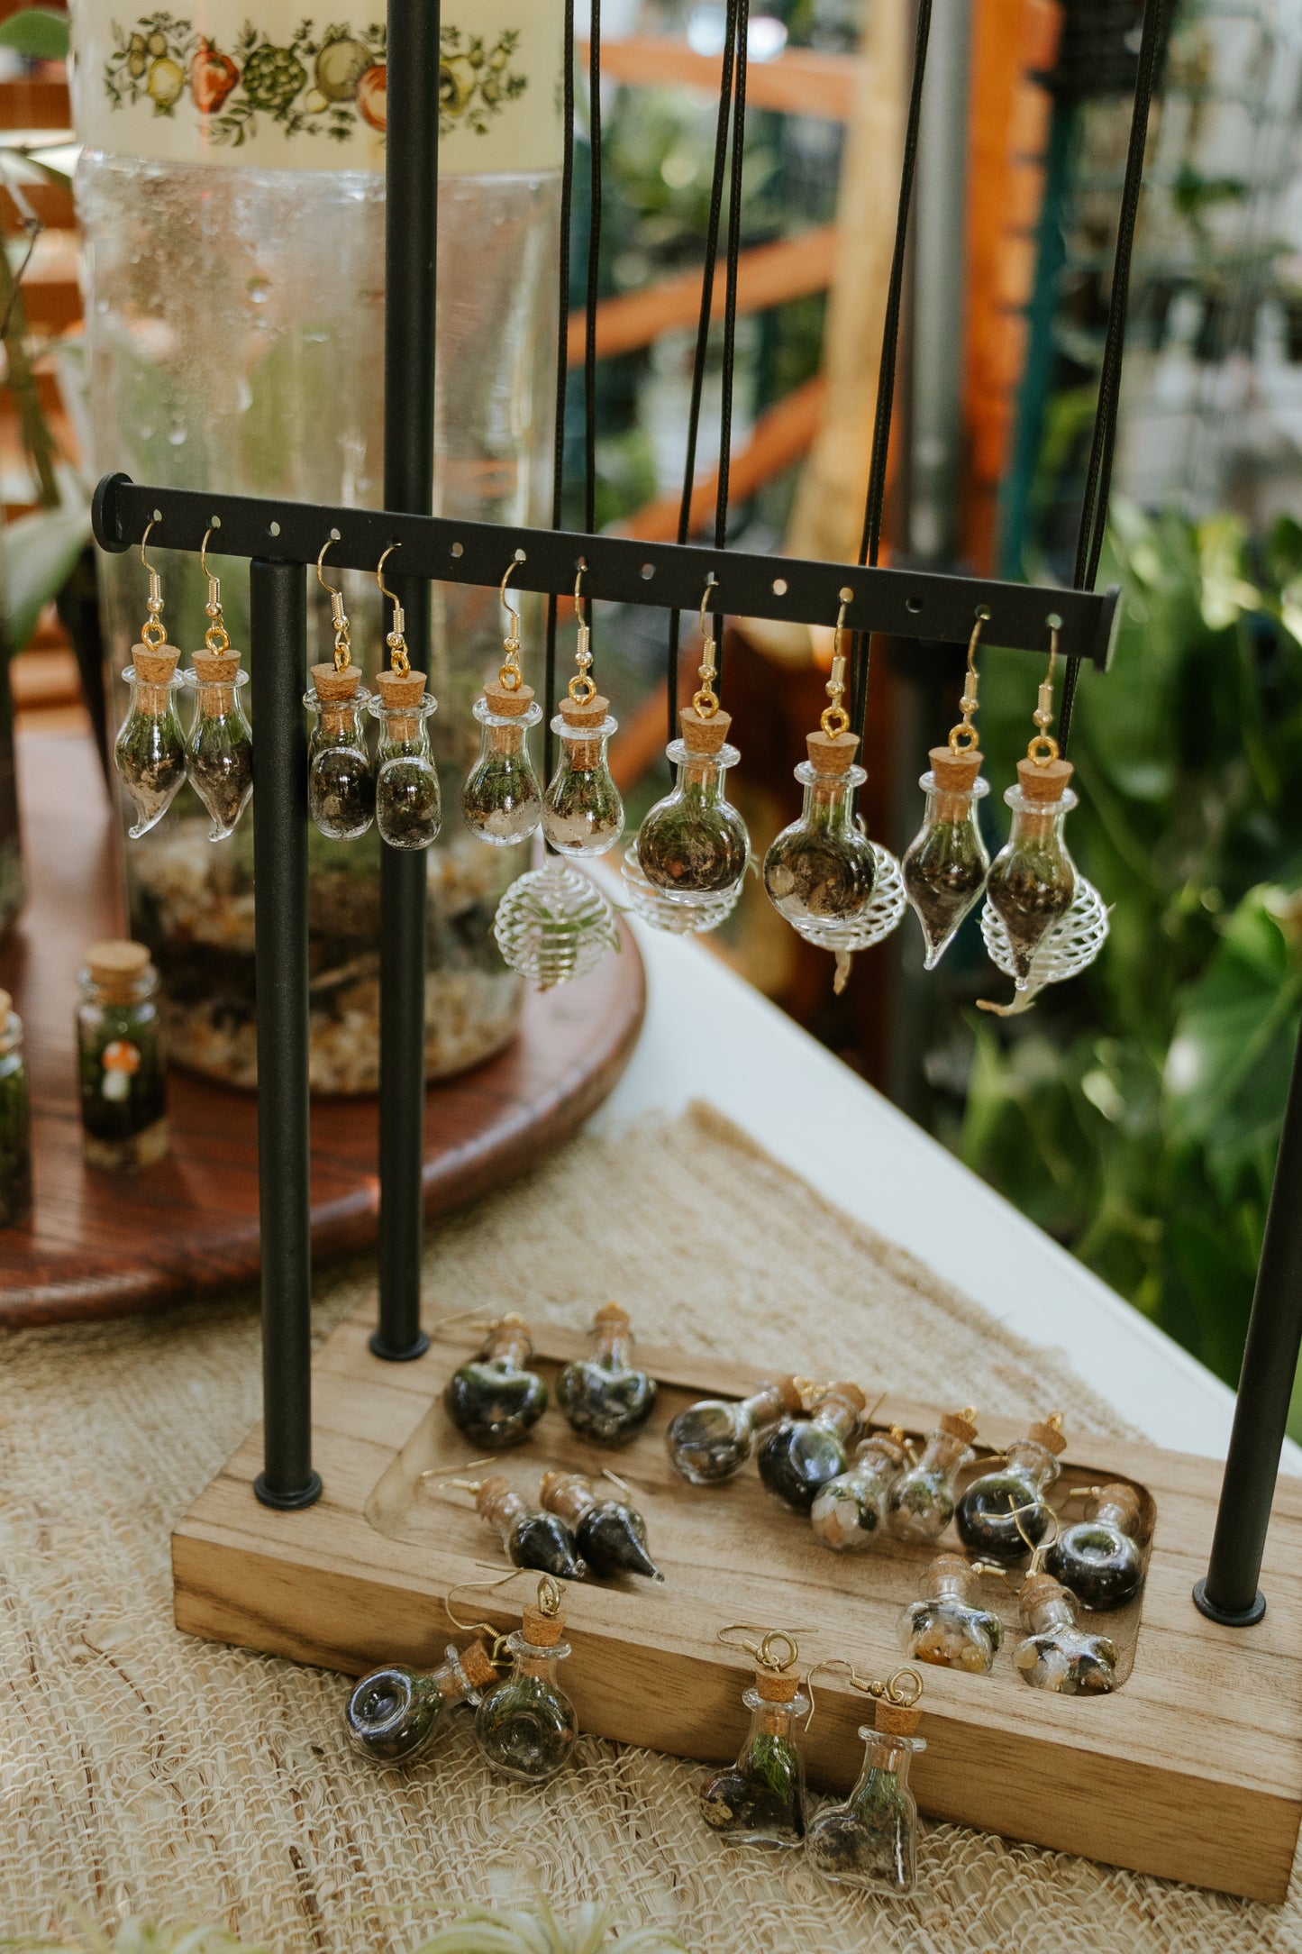
<svg viewBox="0 0 1302 1954">
<path fill-rule="evenodd" d="M 824 1880 L 865 1893 L 902 1897 L 917 1880 L 917 1800 L 908 1774 L 927 1749 L 917 1737 L 921 1712 L 878 1702 L 876 1729 L 865 1723 L 859 1780 L 839 1805 L 824 1805 L 808 1837 L 808 1860 Z"/>
</svg>

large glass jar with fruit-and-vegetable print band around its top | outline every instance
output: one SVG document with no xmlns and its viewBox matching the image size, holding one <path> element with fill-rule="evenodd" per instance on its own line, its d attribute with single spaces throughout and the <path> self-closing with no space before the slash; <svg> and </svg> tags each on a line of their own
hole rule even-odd
<svg viewBox="0 0 1302 1954">
<path fill-rule="evenodd" d="M 435 508 L 535 522 L 549 483 L 560 205 L 562 0 L 443 8 Z M 123 18 L 74 0 L 74 111 L 86 149 L 86 322 L 96 471 L 137 481 L 379 508 L 383 502 L 385 14 L 308 25 L 289 0 L 250 16 Z M 256 25 L 254 25 L 256 20 Z M 199 31 L 201 29 L 201 31 Z M 219 545 L 221 535 L 213 541 Z M 322 543 L 326 537 L 322 535 Z M 150 537 L 174 643 L 203 643 L 193 557 Z M 248 645 L 246 569 L 221 563 L 226 625 Z M 353 651 L 383 651 L 375 576 L 342 573 Z M 330 600 L 310 578 L 308 664 Z M 111 698 L 142 616 L 139 559 L 102 559 Z M 535 645 L 537 606 L 527 639 Z M 521 983 L 492 918 L 523 850 L 459 821 L 478 744 L 470 707 L 500 662 L 496 592 L 435 584 L 431 743 L 447 819 L 427 854 L 427 1077 L 515 1032 Z M 306 682 L 306 672 L 305 672 Z M 131 932 L 148 944 L 176 1063 L 256 1083 L 252 823 L 209 842 L 182 787 L 127 848 Z M 310 832 L 312 1086 L 379 1079 L 379 862 L 373 830 Z"/>
</svg>

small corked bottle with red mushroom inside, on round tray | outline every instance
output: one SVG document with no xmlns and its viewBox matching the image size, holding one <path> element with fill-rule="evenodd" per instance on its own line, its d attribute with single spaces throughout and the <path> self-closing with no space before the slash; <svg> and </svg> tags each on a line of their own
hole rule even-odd
<svg viewBox="0 0 1302 1954">
<path fill-rule="evenodd" d="M 76 1051 L 90 1167 L 139 1168 L 168 1151 L 158 971 L 144 944 L 92 944 L 78 975 Z"/>
</svg>

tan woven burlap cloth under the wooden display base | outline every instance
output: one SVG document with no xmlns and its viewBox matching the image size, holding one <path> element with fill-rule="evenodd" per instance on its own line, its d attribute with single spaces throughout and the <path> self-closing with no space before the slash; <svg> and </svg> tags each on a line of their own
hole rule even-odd
<svg viewBox="0 0 1302 1954">
<path fill-rule="evenodd" d="M 322 1282 L 320 1333 L 367 1282 Z M 574 1325 L 619 1296 L 681 1348 L 1122 1432 L 1052 1352 L 701 1108 L 584 1137 L 439 1227 L 426 1294 Z M 74 1901 L 285 1954 L 404 1954 L 459 1901 L 537 1880 L 562 1915 L 609 1895 L 693 1954 L 1302 1948 L 1296 1880 L 1271 1909 L 953 1825 L 923 1827 L 915 1899 L 841 1895 L 800 1854 L 722 1848 L 699 1764 L 595 1739 L 541 1792 L 494 1782 L 465 1723 L 375 1774 L 344 1749 L 340 1677 L 172 1628 L 168 1534 L 258 1415 L 250 1299 L 35 1331 L 0 1360 L 0 1936 L 59 1931 Z"/>
</svg>

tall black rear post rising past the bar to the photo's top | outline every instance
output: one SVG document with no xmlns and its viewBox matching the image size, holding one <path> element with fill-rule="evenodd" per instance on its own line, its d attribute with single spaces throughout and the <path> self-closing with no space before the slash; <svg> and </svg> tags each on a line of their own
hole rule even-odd
<svg viewBox="0 0 1302 1954">
<path fill-rule="evenodd" d="M 385 231 L 385 508 L 433 510 L 433 340 L 439 221 L 439 6 L 388 0 Z M 390 559 L 412 664 L 429 668 L 429 584 Z M 381 850 L 379 1329 L 392 1364 L 424 1356 L 426 854 Z"/>
</svg>

